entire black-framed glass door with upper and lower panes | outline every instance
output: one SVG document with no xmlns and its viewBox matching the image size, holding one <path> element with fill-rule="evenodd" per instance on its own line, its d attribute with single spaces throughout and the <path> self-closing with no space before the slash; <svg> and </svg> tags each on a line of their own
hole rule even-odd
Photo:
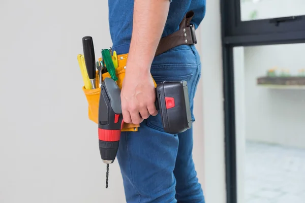
<svg viewBox="0 0 305 203">
<path fill-rule="evenodd" d="M 227 203 L 305 202 L 303 8 L 221 0 Z"/>
</svg>

